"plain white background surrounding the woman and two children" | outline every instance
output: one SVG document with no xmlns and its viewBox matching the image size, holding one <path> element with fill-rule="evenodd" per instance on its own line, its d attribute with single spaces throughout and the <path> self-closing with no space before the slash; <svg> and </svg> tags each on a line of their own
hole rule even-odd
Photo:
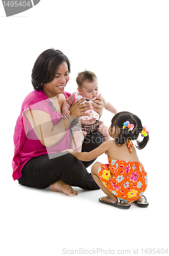
<svg viewBox="0 0 169 256">
<path fill-rule="evenodd" d="M 93 248 L 115 253 L 130 249 L 131 255 L 138 249 L 141 255 L 142 248 L 167 248 L 168 9 L 168 1 L 41 0 L 30 10 L 6 17 L 0 3 L 3 256 L 63 255 L 67 250 L 77 255 L 79 248 L 85 254 Z M 24 97 L 33 90 L 34 62 L 51 47 L 71 60 L 66 91 L 76 89 L 78 72 L 91 70 L 102 95 L 147 126 L 150 141 L 138 157 L 149 178 L 148 208 L 132 204 L 121 210 L 100 204 L 101 190 L 77 188 L 79 195 L 70 198 L 13 181 L 16 119 Z M 104 110 L 101 120 L 107 126 L 111 118 Z M 107 163 L 105 155 L 97 160 Z"/>
</svg>

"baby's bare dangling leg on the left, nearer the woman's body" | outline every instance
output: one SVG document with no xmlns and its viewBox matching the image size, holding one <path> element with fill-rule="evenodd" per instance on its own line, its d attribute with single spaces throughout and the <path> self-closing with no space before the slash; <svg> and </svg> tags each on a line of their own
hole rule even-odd
<svg viewBox="0 0 169 256">
<path fill-rule="evenodd" d="M 81 152 L 81 147 L 85 136 L 87 135 L 86 131 L 75 131 L 72 136 L 72 150 L 76 152 Z"/>
</svg>

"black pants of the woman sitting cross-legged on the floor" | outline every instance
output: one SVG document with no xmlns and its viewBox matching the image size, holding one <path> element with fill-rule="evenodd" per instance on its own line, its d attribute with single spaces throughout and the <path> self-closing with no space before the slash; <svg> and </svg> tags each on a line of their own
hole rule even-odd
<svg viewBox="0 0 169 256">
<path fill-rule="evenodd" d="M 82 152 L 90 152 L 102 142 L 103 137 L 99 132 L 89 133 L 83 141 Z M 82 162 L 69 153 L 56 153 L 51 159 L 48 155 L 33 157 L 23 166 L 22 177 L 18 182 L 21 185 L 42 189 L 61 179 L 71 186 L 99 189 L 86 169 L 95 160 Z"/>
</svg>

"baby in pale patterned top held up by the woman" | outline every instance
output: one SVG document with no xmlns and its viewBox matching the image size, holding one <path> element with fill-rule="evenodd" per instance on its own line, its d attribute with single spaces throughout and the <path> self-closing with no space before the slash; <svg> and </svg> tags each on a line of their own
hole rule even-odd
<svg viewBox="0 0 169 256">
<path fill-rule="evenodd" d="M 93 72 L 87 70 L 80 72 L 76 77 L 76 82 L 78 86 L 77 92 L 72 93 L 72 95 L 63 103 L 63 118 L 70 117 L 69 108 L 77 100 L 84 99 L 82 103 L 94 103 L 93 100 L 98 96 L 103 100 L 104 108 L 106 110 L 114 113 L 115 115 L 118 113 L 117 109 L 110 102 L 107 102 L 101 93 L 99 93 L 98 80 Z M 104 141 L 110 139 L 108 127 L 104 125 L 102 121 L 99 121 L 98 113 L 95 112 L 93 108 L 84 112 L 89 113 L 89 115 L 80 116 L 71 123 L 71 130 L 73 134 L 72 149 L 76 152 L 81 152 L 81 145 L 87 133 L 99 131 L 102 134 Z"/>
</svg>

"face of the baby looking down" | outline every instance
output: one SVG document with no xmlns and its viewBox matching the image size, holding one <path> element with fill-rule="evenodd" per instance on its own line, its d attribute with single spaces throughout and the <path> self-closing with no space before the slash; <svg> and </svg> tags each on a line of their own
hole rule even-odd
<svg viewBox="0 0 169 256">
<path fill-rule="evenodd" d="M 96 99 L 99 96 L 97 78 L 95 78 L 93 82 L 83 82 L 81 88 L 77 88 L 77 90 L 83 97 L 87 99 Z"/>
</svg>

